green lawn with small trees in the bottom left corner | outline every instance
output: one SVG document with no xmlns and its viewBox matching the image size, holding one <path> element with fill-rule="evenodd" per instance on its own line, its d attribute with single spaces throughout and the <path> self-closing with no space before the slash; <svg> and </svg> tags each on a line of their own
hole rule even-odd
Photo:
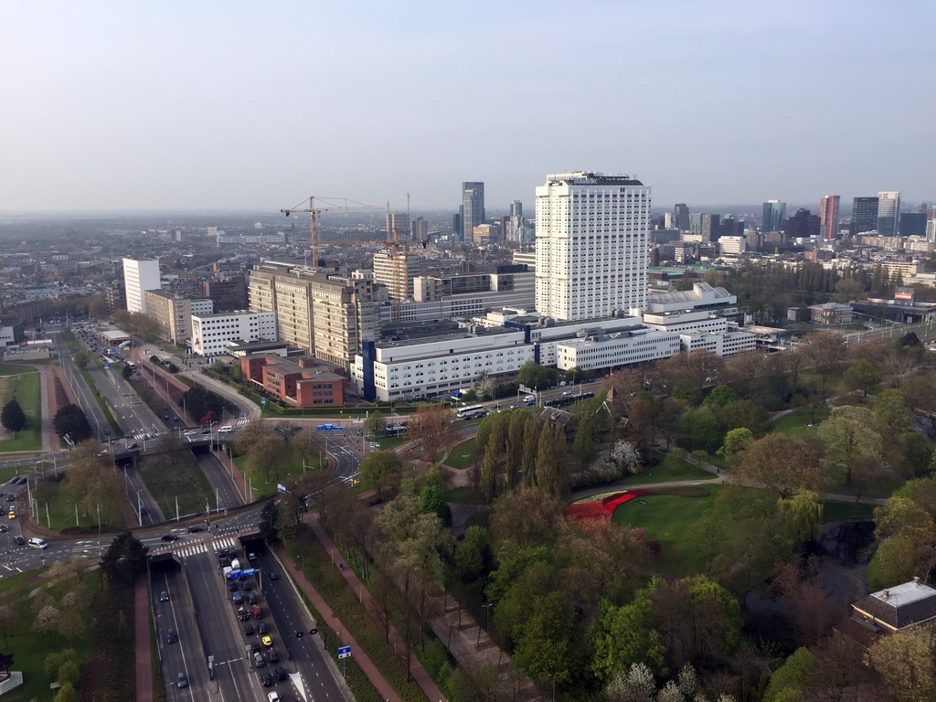
<svg viewBox="0 0 936 702">
<path fill-rule="evenodd" d="M 8 596 L 17 596 L 19 599 L 18 595 L 22 591 L 28 592 L 34 588 L 45 586 L 47 584 L 46 580 L 37 581 L 40 572 L 40 570 L 31 570 L 0 579 L 0 593 L 3 593 L 4 599 Z M 87 599 L 90 599 L 92 592 L 97 587 L 98 578 L 98 571 L 87 571 L 82 577 Z M 25 604 L 16 607 L 17 616 L 6 624 L 8 637 L 4 638 L 4 652 L 13 653 L 13 669 L 22 672 L 22 685 L 3 695 L 4 702 L 51 699 L 49 691 L 51 680 L 49 680 L 49 676 L 46 675 L 45 671 L 46 656 L 51 651 L 75 649 L 78 653 L 80 665 L 86 664 L 91 658 L 94 632 L 88 617 L 85 617 L 85 623 L 88 626 L 84 634 L 72 641 L 68 641 L 65 636 L 58 634 L 44 636 L 33 631 L 36 613 L 33 611 L 32 604 L 32 597 L 26 595 Z M 82 608 L 82 611 L 86 610 Z M 8 645 L 7 641 L 9 642 Z"/>
</svg>

